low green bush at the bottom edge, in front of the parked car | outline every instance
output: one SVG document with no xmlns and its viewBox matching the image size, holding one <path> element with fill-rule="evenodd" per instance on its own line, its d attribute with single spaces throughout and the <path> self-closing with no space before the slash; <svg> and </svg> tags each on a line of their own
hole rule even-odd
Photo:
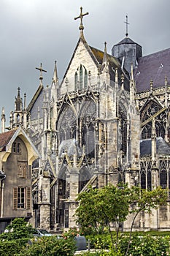
<svg viewBox="0 0 170 256">
<path fill-rule="evenodd" d="M 65 256 L 74 255 L 76 251 L 73 239 L 58 239 L 56 236 L 44 236 L 42 238 L 32 239 L 32 244 L 23 249 L 16 256 Z"/>
</svg>

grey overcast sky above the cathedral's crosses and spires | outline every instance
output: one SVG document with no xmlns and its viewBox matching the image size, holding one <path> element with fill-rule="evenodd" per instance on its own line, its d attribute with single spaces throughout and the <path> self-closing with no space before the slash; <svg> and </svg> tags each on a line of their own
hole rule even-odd
<svg viewBox="0 0 170 256">
<path fill-rule="evenodd" d="M 0 110 L 4 106 L 7 118 L 18 86 L 27 105 L 34 96 L 41 62 L 44 86 L 51 84 L 55 60 L 62 80 L 79 39 L 74 17 L 81 6 L 89 12 L 83 25 L 90 46 L 103 50 L 106 41 L 111 53 L 125 37 L 128 14 L 129 37 L 142 45 L 143 55 L 170 47 L 169 0 L 0 0 Z"/>
</svg>

